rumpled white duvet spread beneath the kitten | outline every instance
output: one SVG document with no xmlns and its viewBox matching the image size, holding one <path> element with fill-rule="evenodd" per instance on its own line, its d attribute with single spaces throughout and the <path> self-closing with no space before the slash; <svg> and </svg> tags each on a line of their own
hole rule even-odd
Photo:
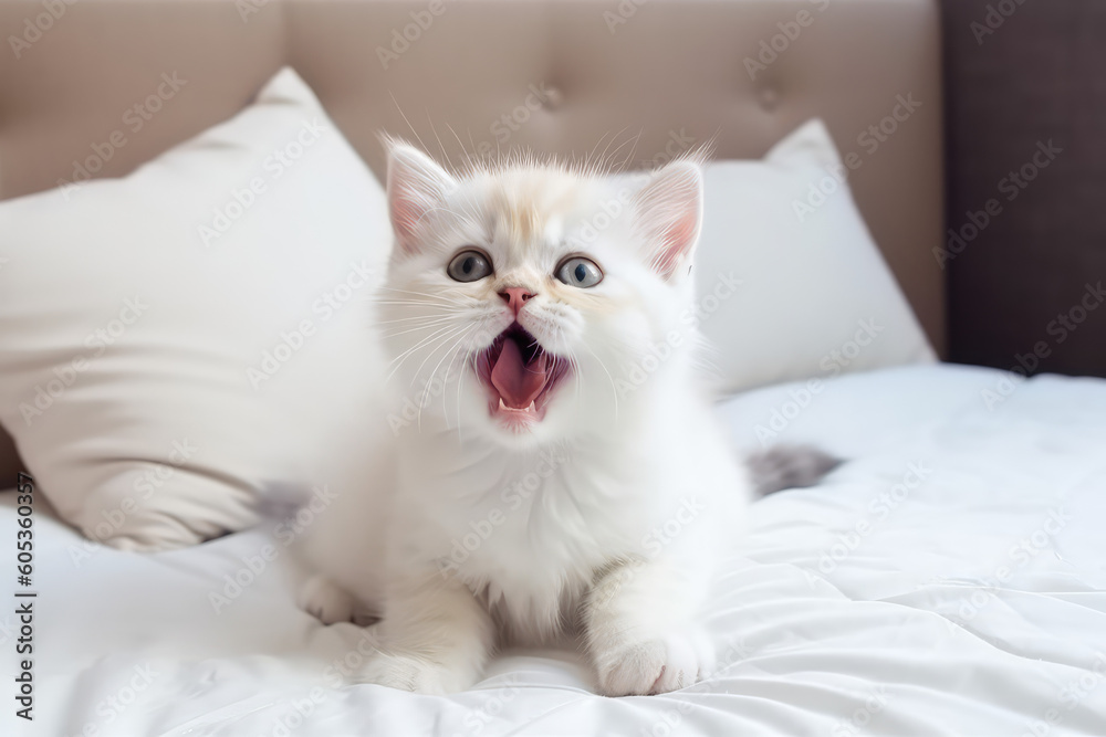
<svg viewBox="0 0 1106 737">
<path fill-rule="evenodd" d="M 744 445 L 848 462 L 755 505 L 709 611 L 721 667 L 665 696 L 595 696 L 557 651 L 504 653 L 450 697 L 346 685 L 372 639 L 295 609 L 283 530 L 142 557 L 40 507 L 34 720 L 6 695 L 0 733 L 1106 735 L 1106 381 L 1006 377 L 904 368 L 722 406 Z"/>
</svg>

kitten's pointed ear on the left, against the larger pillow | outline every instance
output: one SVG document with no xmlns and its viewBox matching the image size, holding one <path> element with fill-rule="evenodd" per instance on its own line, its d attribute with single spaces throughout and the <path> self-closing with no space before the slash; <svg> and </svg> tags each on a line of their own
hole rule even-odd
<svg viewBox="0 0 1106 737">
<path fill-rule="evenodd" d="M 400 140 L 387 140 L 388 212 L 399 248 L 418 251 L 422 218 L 440 207 L 457 181 L 429 156 Z"/>
</svg>

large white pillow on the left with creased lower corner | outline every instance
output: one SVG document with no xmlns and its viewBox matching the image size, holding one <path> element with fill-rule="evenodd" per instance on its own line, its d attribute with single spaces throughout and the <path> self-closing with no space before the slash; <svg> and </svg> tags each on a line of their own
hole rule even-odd
<svg viewBox="0 0 1106 737">
<path fill-rule="evenodd" d="M 61 515 L 166 548 L 355 483 L 386 212 L 291 70 L 127 177 L 0 203 L 0 421 Z"/>
</svg>

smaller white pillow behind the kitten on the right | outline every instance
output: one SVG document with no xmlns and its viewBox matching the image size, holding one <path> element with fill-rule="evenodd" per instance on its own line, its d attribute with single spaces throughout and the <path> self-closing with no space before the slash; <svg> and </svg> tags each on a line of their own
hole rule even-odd
<svg viewBox="0 0 1106 737">
<path fill-rule="evenodd" d="M 811 120 L 761 161 L 706 167 L 697 317 L 723 391 L 936 359 L 848 186 L 796 206 L 839 164 Z"/>
</svg>

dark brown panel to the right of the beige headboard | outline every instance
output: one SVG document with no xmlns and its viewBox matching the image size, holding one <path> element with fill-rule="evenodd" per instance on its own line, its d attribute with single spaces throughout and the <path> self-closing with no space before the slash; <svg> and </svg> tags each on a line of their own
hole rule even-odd
<svg viewBox="0 0 1106 737">
<path fill-rule="evenodd" d="M 1106 3 L 942 4 L 951 357 L 1106 376 Z"/>
</svg>

